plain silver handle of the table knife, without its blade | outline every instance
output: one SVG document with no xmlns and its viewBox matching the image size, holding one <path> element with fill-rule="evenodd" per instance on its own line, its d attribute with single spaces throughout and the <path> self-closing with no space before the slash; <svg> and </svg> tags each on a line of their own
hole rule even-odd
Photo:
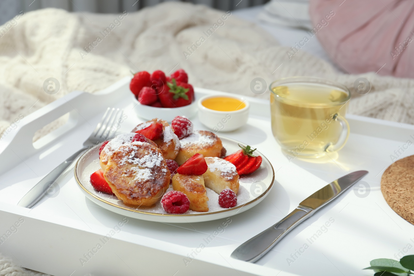
<svg viewBox="0 0 414 276">
<path fill-rule="evenodd" d="M 255 262 L 266 254 L 284 235 L 313 214 L 313 209 L 298 206 L 274 226 L 243 243 L 231 254 L 232 258 Z"/>
</svg>

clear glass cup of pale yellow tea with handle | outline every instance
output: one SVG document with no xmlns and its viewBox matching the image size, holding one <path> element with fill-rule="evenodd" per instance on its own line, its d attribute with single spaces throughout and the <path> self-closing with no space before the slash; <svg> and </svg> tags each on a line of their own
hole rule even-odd
<svg viewBox="0 0 414 276">
<path fill-rule="evenodd" d="M 342 149 L 349 136 L 347 87 L 317 77 L 289 77 L 272 82 L 270 91 L 273 136 L 289 160 Z"/>
</svg>

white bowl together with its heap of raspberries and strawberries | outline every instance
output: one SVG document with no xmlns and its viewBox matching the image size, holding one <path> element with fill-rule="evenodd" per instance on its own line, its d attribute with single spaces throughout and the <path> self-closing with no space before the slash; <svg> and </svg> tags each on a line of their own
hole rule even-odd
<svg viewBox="0 0 414 276">
<path fill-rule="evenodd" d="M 135 112 L 146 120 L 163 118 L 171 122 L 178 115 L 193 118 L 197 113 L 194 89 L 183 69 L 169 77 L 161 70 L 152 74 L 137 72 L 130 82 L 130 90 L 137 99 Z"/>
</svg>

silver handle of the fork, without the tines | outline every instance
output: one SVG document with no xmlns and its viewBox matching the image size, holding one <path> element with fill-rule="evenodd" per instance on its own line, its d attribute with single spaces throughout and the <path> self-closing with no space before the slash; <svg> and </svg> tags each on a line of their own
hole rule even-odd
<svg viewBox="0 0 414 276">
<path fill-rule="evenodd" d="M 65 161 L 60 163 L 56 168 L 54 168 L 50 173 L 48 173 L 42 180 L 36 183 L 29 192 L 27 192 L 22 199 L 20 199 L 17 206 L 22 206 L 26 208 L 31 208 L 36 202 L 39 201 L 46 194 L 46 191 L 49 189 L 50 185 L 58 179 L 58 177 L 76 160 L 76 157 L 79 156 L 83 151 L 88 149 L 88 146 L 84 146 L 79 151 L 72 154 Z"/>
</svg>

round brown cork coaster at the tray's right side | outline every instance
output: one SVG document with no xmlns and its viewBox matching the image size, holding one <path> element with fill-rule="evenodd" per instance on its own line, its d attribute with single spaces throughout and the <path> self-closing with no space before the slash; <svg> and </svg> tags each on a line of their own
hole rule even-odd
<svg viewBox="0 0 414 276">
<path fill-rule="evenodd" d="M 392 210 L 414 224 L 414 155 L 395 161 L 385 170 L 381 192 Z"/>
</svg>

